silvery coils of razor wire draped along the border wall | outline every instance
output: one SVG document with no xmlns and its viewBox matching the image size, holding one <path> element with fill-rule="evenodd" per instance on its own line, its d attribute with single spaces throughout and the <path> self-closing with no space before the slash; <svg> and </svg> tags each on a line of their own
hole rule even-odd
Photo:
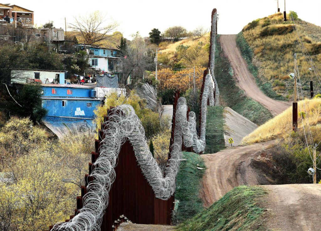
<svg viewBox="0 0 321 231">
<path fill-rule="evenodd" d="M 171 158 L 165 169 L 165 177 L 158 163 L 153 158 L 147 145 L 145 130 L 142 122 L 135 114 L 132 106 L 125 104 L 111 109 L 108 121 L 104 123 L 104 138 L 100 143 L 100 155 L 93 163 L 87 193 L 83 198 L 83 207 L 78 214 L 68 222 L 57 223 L 52 231 L 100 231 L 100 224 L 108 206 L 109 191 L 115 181 L 115 166 L 118 153 L 126 139 L 132 144 L 135 157 L 142 173 L 157 198 L 169 199 L 175 192 L 175 179 L 182 159 L 182 143 L 193 147 L 196 153 L 205 149 L 205 129 L 207 100 L 214 105 L 211 75 L 207 74 L 202 96 L 202 120 L 200 137 L 196 132 L 195 113 L 189 112 L 187 121 L 187 104 L 184 97 L 178 99 L 175 116 L 174 142 L 171 145 Z"/>
</svg>

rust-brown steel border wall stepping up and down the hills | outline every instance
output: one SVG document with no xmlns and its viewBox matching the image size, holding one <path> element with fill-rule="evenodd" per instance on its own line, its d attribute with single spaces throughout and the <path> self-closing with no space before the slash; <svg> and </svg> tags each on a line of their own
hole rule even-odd
<svg viewBox="0 0 321 231">
<path fill-rule="evenodd" d="M 216 9 L 212 11 L 212 24 L 213 15 Z M 217 27 L 217 24 L 216 24 Z M 216 30 L 217 31 L 217 30 Z M 212 31 L 211 31 L 212 35 Z M 212 36 L 210 42 L 210 50 L 212 46 Z M 209 56 L 209 64 L 211 61 L 211 54 Z M 200 116 L 199 122 L 202 120 L 202 104 L 201 99 L 204 92 L 204 82 L 205 76 L 208 71 L 204 71 L 203 83 L 201 87 L 200 94 Z M 175 130 L 175 118 L 176 118 L 176 106 L 178 103 L 178 98 L 180 97 L 179 90 L 174 92 L 173 99 L 173 117 L 172 117 L 172 129 L 171 138 L 169 145 L 169 159 L 171 153 L 171 145 L 174 143 L 174 130 Z M 214 92 L 215 99 L 215 92 Z M 209 102 L 208 102 L 209 105 Z M 187 111 L 187 119 L 188 112 Z M 112 112 L 108 112 L 112 113 Z M 104 121 L 108 120 L 108 115 L 104 118 Z M 103 126 L 103 125 L 101 125 Z M 104 127 L 106 129 L 106 127 Z M 104 138 L 103 131 L 99 130 L 99 139 L 95 140 L 95 152 L 91 153 L 91 163 L 89 163 L 89 172 L 85 175 L 85 186 L 81 187 L 81 196 L 76 198 L 76 209 L 74 215 L 70 216 L 70 219 L 74 218 L 75 215 L 82 208 L 84 195 L 87 193 L 88 183 L 91 182 L 93 177 L 90 176 L 93 170 L 93 165 L 97 158 L 99 157 L 99 147 L 100 142 Z M 193 152 L 192 147 L 187 148 L 182 145 L 182 151 Z M 137 224 L 171 224 L 171 214 L 174 210 L 174 195 L 169 198 L 169 200 L 164 201 L 155 197 L 152 187 L 148 184 L 147 180 L 143 176 L 142 170 L 138 165 L 133 150 L 133 146 L 127 140 L 120 149 L 117 159 L 117 166 L 115 167 L 116 179 L 111 186 L 109 191 L 109 202 L 108 207 L 105 210 L 105 214 L 102 219 L 102 224 L 100 226 L 101 231 L 115 231 L 120 223 L 131 220 Z M 68 222 L 70 219 L 67 219 Z M 53 226 L 49 227 L 49 230 Z"/>
</svg>

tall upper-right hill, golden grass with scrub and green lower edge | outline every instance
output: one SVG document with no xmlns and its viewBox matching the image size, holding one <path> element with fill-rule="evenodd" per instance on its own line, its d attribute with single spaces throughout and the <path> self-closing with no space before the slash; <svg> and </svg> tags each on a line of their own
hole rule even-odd
<svg viewBox="0 0 321 231">
<path fill-rule="evenodd" d="M 291 99 L 292 80 L 288 74 L 294 70 L 294 53 L 301 53 L 297 42 L 296 24 L 303 44 L 310 55 L 321 53 L 321 28 L 296 19 L 284 22 L 282 13 L 257 19 L 246 25 L 239 33 L 237 43 L 249 64 L 249 70 L 256 77 L 258 85 L 266 95 L 274 99 Z M 301 53 L 302 54 L 302 53 Z M 321 55 L 313 57 L 321 61 Z M 309 95 L 311 66 L 304 56 L 298 56 L 301 84 L 304 94 Z"/>
</svg>

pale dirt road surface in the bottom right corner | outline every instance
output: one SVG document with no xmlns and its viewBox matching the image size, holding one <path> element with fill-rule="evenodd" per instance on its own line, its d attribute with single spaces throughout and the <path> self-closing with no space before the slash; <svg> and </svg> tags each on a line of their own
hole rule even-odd
<svg viewBox="0 0 321 231">
<path fill-rule="evenodd" d="M 263 197 L 267 230 L 320 231 L 320 184 L 267 185 Z"/>
</svg>

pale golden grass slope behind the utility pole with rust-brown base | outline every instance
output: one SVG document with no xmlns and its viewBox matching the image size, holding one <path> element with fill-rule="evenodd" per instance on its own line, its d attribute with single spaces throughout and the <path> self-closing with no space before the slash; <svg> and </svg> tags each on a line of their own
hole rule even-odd
<svg viewBox="0 0 321 231">
<path fill-rule="evenodd" d="M 301 119 L 300 112 L 307 111 L 305 119 Z M 305 128 L 321 122 L 321 99 L 305 99 L 298 103 L 298 128 Z M 253 144 L 262 141 L 272 140 L 277 137 L 290 134 L 292 131 L 292 107 L 283 111 L 273 119 L 258 127 L 248 136 L 244 137 L 242 143 Z"/>
</svg>

